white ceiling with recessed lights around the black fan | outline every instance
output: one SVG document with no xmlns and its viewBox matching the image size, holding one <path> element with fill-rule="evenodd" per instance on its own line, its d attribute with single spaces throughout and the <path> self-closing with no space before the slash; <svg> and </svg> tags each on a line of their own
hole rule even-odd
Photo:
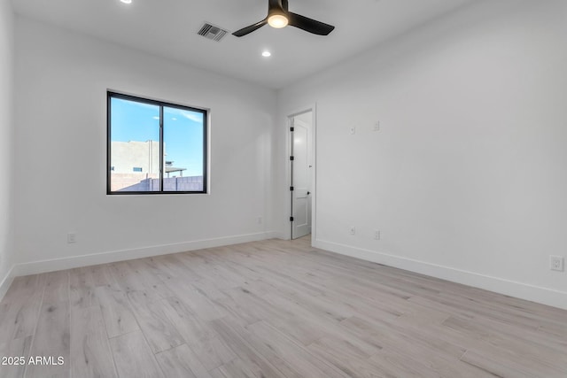
<svg viewBox="0 0 567 378">
<path fill-rule="evenodd" d="M 334 25 L 328 36 L 295 27 L 261 27 L 214 42 L 197 35 L 204 21 L 233 32 L 266 17 L 268 0 L 12 0 L 15 11 L 280 89 L 417 27 L 471 0 L 289 0 L 291 12 Z M 272 52 L 262 58 L 262 50 Z"/>
</svg>

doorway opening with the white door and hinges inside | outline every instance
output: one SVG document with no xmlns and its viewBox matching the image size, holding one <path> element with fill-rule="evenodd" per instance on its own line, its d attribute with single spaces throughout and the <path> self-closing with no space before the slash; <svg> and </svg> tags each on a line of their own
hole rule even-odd
<svg viewBox="0 0 567 378">
<path fill-rule="evenodd" d="M 291 239 L 313 240 L 315 208 L 315 112 L 288 116 L 290 130 Z"/>
</svg>

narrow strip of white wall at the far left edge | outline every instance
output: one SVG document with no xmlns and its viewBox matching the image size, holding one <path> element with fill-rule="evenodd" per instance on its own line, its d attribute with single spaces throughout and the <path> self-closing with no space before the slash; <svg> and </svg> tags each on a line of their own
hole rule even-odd
<svg viewBox="0 0 567 378">
<path fill-rule="evenodd" d="M 14 243 L 12 228 L 13 197 L 13 13 L 9 0 L 0 0 L 0 161 L 3 183 L 0 185 L 0 297 L 8 289 L 11 279 Z"/>
</svg>

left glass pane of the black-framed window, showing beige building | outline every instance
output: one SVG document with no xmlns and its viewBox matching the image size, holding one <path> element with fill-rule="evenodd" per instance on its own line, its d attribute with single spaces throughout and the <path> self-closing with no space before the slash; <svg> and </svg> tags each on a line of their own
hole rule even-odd
<svg viewBox="0 0 567 378">
<path fill-rule="evenodd" d="M 159 105 L 111 97 L 111 191 L 159 191 Z"/>
</svg>

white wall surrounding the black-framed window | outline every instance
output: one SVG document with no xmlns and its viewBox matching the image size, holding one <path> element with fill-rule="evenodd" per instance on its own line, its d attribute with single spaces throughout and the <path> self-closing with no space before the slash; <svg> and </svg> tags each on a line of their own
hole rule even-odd
<svg viewBox="0 0 567 378">
<path fill-rule="evenodd" d="M 106 196 L 106 89 L 211 109 L 210 195 Z M 17 274 L 271 235 L 275 113 L 271 89 L 18 18 Z"/>
</svg>

